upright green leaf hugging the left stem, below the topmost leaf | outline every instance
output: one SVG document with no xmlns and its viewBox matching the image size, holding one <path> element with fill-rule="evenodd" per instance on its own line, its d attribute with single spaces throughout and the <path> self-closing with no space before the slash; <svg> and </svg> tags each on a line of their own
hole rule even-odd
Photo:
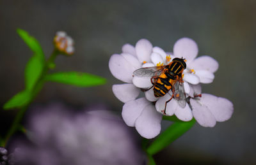
<svg viewBox="0 0 256 165">
<path fill-rule="evenodd" d="M 33 55 L 25 69 L 25 85 L 26 89 L 32 90 L 37 80 L 40 78 L 44 71 L 44 61 L 38 55 Z"/>
</svg>

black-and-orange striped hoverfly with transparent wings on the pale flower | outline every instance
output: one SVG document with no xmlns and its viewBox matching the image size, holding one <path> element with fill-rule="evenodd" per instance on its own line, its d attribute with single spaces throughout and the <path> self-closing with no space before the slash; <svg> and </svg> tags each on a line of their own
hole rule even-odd
<svg viewBox="0 0 256 165">
<path fill-rule="evenodd" d="M 166 114 L 166 104 L 173 97 L 182 108 L 186 106 L 186 94 L 182 80 L 182 73 L 186 69 L 186 62 L 184 60 L 182 58 L 175 58 L 166 66 L 140 68 L 133 72 L 134 76 L 150 77 L 153 86 L 149 89 L 153 88 L 155 97 L 162 97 L 166 93 L 172 96 L 165 103 L 164 114 Z"/>
</svg>

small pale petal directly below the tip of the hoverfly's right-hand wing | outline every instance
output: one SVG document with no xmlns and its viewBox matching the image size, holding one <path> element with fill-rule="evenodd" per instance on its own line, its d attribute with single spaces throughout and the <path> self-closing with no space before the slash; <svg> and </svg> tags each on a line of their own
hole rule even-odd
<svg viewBox="0 0 256 165">
<path fill-rule="evenodd" d="M 175 115 L 177 118 L 185 122 L 188 122 L 193 118 L 192 111 L 189 108 L 188 104 L 186 104 L 185 108 L 181 108 L 180 106 L 177 106 Z"/>
</svg>

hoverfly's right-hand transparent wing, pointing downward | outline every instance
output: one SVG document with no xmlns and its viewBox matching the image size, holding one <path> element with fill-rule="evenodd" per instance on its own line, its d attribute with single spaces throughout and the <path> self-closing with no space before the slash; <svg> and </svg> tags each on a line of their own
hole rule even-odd
<svg viewBox="0 0 256 165">
<path fill-rule="evenodd" d="M 185 108 L 185 106 L 186 106 L 186 94 L 185 94 L 185 89 L 184 89 L 182 79 L 178 80 L 174 84 L 174 98 L 178 101 L 178 104 L 182 108 Z"/>
</svg>

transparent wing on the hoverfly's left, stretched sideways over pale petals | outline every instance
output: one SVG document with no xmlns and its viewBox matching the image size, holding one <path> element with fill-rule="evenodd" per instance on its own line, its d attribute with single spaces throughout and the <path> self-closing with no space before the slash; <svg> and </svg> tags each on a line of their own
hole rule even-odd
<svg viewBox="0 0 256 165">
<path fill-rule="evenodd" d="M 165 66 L 153 66 L 148 68 L 140 68 L 133 72 L 134 76 L 152 77 L 159 76 L 163 72 Z"/>
</svg>

